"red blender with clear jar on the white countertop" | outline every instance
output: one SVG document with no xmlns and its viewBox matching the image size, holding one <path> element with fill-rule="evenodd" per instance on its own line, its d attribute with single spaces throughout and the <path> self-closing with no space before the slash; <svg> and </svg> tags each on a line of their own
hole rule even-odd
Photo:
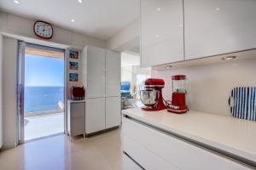
<svg viewBox="0 0 256 170">
<path fill-rule="evenodd" d="M 188 81 L 184 75 L 172 76 L 172 102 L 167 111 L 172 113 L 185 113 L 189 111 L 186 105 Z"/>
</svg>

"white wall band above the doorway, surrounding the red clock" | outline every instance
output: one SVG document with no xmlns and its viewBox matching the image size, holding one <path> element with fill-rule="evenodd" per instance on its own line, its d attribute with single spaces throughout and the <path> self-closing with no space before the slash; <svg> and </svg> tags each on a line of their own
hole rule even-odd
<svg viewBox="0 0 256 170">
<path fill-rule="evenodd" d="M 20 37 L 39 39 L 35 36 L 33 31 L 34 22 L 35 20 L 0 11 L 0 32 Z M 49 42 L 61 43 L 74 48 L 84 48 L 85 45 L 92 45 L 101 48 L 106 47 L 106 42 L 103 40 L 63 29 L 59 26 L 53 26 L 53 28 L 54 36 L 49 40 Z"/>
</svg>

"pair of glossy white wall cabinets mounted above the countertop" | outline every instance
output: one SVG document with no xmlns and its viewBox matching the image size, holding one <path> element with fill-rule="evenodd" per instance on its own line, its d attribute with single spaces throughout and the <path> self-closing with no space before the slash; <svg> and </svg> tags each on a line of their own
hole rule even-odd
<svg viewBox="0 0 256 170">
<path fill-rule="evenodd" d="M 256 48 L 256 1 L 141 0 L 141 65 Z"/>
</svg>

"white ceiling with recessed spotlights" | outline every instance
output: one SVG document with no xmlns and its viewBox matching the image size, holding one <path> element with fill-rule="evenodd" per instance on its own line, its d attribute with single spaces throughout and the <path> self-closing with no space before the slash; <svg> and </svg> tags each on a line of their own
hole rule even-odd
<svg viewBox="0 0 256 170">
<path fill-rule="evenodd" d="M 0 9 L 103 40 L 136 20 L 139 0 L 0 0 Z M 71 20 L 75 20 L 72 22 Z"/>
</svg>

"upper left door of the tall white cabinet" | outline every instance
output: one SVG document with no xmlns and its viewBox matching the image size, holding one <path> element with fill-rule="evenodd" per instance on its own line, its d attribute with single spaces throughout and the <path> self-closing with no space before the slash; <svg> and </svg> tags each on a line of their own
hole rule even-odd
<svg viewBox="0 0 256 170">
<path fill-rule="evenodd" d="M 105 97 L 105 49 L 87 47 L 86 98 Z"/>
</svg>

